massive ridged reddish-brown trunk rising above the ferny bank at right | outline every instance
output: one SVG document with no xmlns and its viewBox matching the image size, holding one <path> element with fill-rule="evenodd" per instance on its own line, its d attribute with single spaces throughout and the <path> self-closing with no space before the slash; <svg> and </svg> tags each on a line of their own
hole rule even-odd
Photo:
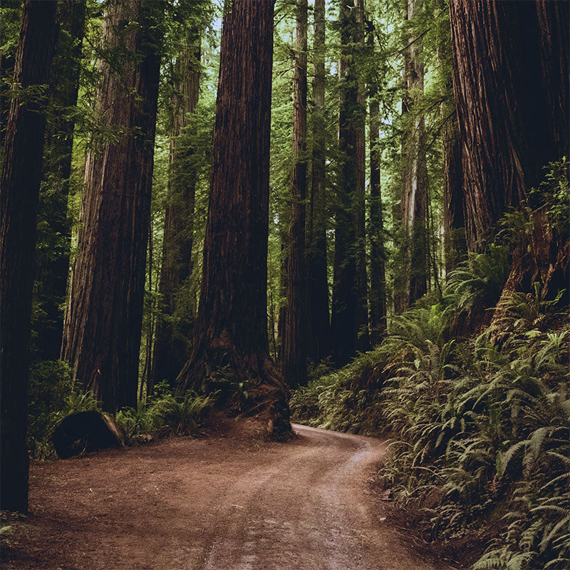
<svg viewBox="0 0 570 570">
<path fill-rule="evenodd" d="M 567 155 L 568 12 L 564 1 L 450 2 L 470 249 Z"/>
</svg>

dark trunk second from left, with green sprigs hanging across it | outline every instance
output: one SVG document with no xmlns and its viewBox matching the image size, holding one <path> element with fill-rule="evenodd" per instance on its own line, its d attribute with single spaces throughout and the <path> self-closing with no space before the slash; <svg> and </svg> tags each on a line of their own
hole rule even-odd
<svg viewBox="0 0 570 570">
<path fill-rule="evenodd" d="M 41 314 L 34 326 L 40 360 L 57 360 L 61 351 L 61 306 L 66 299 L 71 247 L 67 203 L 75 127 L 73 111 L 79 90 L 85 14 L 85 0 L 58 1 L 59 33 L 50 78 L 51 122 L 44 148 L 34 291 Z"/>
</svg>

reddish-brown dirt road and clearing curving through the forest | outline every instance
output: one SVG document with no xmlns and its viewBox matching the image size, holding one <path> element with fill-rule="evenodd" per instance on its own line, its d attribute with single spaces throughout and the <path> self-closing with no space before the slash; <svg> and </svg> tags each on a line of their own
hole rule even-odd
<svg viewBox="0 0 570 570">
<path fill-rule="evenodd" d="M 392 524 L 386 443 L 294 425 L 33 462 L 28 517 L 4 520 L 3 569 L 442 570 Z M 409 532 L 409 531 L 408 531 Z"/>
</svg>

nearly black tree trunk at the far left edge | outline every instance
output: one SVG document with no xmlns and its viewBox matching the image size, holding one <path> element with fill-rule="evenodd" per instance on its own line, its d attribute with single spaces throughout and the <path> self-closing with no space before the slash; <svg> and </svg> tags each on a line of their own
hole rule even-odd
<svg viewBox="0 0 570 570">
<path fill-rule="evenodd" d="M 26 0 L 16 80 L 37 93 L 48 83 L 56 2 Z M 14 98 L 6 128 L 0 194 L 0 508 L 28 511 L 28 346 L 33 251 L 46 129 L 46 101 Z"/>
</svg>

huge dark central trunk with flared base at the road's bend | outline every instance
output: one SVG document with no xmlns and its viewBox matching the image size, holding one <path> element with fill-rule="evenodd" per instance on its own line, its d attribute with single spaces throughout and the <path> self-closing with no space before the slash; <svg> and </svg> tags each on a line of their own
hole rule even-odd
<svg viewBox="0 0 570 570">
<path fill-rule="evenodd" d="M 288 390 L 267 339 L 273 14 L 273 1 L 252 0 L 224 14 L 195 345 L 178 380 L 221 388 L 227 407 L 257 413 L 281 435 L 291 430 Z"/>
</svg>

